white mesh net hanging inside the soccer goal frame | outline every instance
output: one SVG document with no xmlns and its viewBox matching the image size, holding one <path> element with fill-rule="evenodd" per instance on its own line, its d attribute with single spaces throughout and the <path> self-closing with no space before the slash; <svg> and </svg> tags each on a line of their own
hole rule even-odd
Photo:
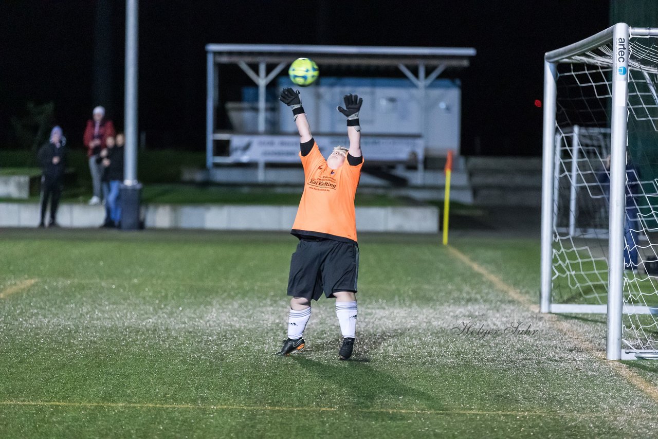
<svg viewBox="0 0 658 439">
<path fill-rule="evenodd" d="M 622 339 L 636 351 L 658 350 L 657 43 L 630 40 Z M 607 303 L 612 56 L 557 66 L 553 303 Z"/>
</svg>

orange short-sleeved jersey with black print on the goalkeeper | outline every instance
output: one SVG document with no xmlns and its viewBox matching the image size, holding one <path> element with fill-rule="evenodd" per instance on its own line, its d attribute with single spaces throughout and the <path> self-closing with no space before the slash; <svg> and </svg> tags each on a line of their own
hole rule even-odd
<svg viewBox="0 0 658 439">
<path fill-rule="evenodd" d="M 300 152 L 299 157 L 304 167 L 305 185 L 291 233 L 356 243 L 354 195 L 363 159 L 359 165 L 352 166 L 345 158 L 342 167 L 332 169 L 315 140 L 311 152 L 305 156 Z"/>
</svg>

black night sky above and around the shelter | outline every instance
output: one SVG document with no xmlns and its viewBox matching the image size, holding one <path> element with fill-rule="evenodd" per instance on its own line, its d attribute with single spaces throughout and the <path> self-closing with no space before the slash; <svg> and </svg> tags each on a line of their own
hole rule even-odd
<svg viewBox="0 0 658 439">
<path fill-rule="evenodd" d="M 204 148 L 206 43 L 474 47 L 462 80 L 462 151 L 539 155 L 543 55 L 609 25 L 606 0 L 145 1 L 139 7 L 139 128 L 147 147 Z M 124 1 L 109 32 L 109 115 L 123 125 Z M 82 146 L 93 101 L 95 1 L 0 3 L 0 142 L 26 103 L 54 101 Z M 320 66 L 321 67 L 321 66 Z M 400 77 L 401 74 L 400 74 Z M 222 88 L 249 80 L 222 70 Z M 239 95 L 236 95 L 239 96 Z"/>
</svg>

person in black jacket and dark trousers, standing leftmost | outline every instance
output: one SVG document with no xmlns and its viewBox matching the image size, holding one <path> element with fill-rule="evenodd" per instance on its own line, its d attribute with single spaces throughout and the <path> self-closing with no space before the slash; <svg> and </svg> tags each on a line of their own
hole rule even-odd
<svg viewBox="0 0 658 439">
<path fill-rule="evenodd" d="M 37 155 L 43 174 L 41 175 L 41 221 L 39 227 L 44 227 L 45 212 L 50 204 L 50 222 L 49 227 L 58 227 L 57 224 L 57 205 L 59 196 L 62 193 L 62 178 L 64 176 L 64 166 L 66 162 L 66 149 L 64 144 L 66 139 L 62 136 L 62 128 L 55 126 L 50 132 L 50 141 L 45 143 Z"/>
</svg>

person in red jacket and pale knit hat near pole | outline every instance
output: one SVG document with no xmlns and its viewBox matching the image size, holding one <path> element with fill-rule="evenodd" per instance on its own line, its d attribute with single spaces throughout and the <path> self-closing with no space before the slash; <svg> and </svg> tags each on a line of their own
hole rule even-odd
<svg viewBox="0 0 658 439">
<path fill-rule="evenodd" d="M 87 121 L 84 132 L 84 145 L 87 147 L 89 158 L 89 172 L 91 172 L 91 183 L 93 186 L 93 197 L 89 200 L 90 205 L 101 203 L 101 176 L 103 169 L 99 165 L 99 154 L 107 147 L 107 138 L 114 137 L 114 124 L 112 120 L 105 118 L 105 108 L 95 107 L 91 112 L 93 116 Z"/>
</svg>

